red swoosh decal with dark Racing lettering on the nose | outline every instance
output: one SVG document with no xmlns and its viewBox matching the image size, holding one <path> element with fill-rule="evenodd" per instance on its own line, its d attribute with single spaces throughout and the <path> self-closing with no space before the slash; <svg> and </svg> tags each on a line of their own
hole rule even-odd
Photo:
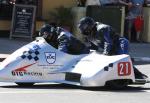
<svg viewBox="0 0 150 103">
<path fill-rule="evenodd" d="M 42 76 L 42 73 L 39 73 L 39 72 L 28 72 L 27 69 L 29 67 L 31 67 L 32 65 L 34 65 L 36 63 L 33 63 L 33 64 L 29 64 L 29 65 L 26 65 L 26 66 L 23 66 L 23 67 L 20 67 L 20 68 L 17 68 L 15 70 L 13 70 L 11 73 L 12 73 L 12 76 Z"/>
</svg>

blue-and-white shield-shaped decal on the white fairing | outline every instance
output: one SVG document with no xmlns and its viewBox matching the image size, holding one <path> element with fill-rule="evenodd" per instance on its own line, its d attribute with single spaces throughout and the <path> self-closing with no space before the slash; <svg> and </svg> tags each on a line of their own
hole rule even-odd
<svg viewBox="0 0 150 103">
<path fill-rule="evenodd" d="M 45 58 L 47 63 L 54 64 L 56 61 L 56 53 L 55 52 L 47 52 L 45 53 Z"/>
</svg>

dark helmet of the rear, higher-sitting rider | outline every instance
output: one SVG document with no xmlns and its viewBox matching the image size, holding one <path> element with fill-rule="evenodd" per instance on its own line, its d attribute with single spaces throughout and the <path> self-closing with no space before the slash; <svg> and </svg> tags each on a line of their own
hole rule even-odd
<svg viewBox="0 0 150 103">
<path fill-rule="evenodd" d="M 91 17 L 81 18 L 78 27 L 83 35 L 89 35 L 95 26 L 95 21 Z"/>
</svg>

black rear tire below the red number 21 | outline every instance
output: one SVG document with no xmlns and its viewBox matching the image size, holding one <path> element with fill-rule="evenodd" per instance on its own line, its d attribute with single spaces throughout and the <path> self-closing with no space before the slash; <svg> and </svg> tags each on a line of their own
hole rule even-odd
<svg viewBox="0 0 150 103">
<path fill-rule="evenodd" d="M 105 86 L 110 89 L 123 89 L 127 87 L 131 82 L 132 80 L 130 79 L 111 80 L 107 81 Z"/>
</svg>

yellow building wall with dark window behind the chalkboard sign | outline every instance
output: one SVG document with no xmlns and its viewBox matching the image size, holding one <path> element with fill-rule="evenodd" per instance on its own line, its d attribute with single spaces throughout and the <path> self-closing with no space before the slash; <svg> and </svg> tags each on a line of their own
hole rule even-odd
<svg viewBox="0 0 150 103">
<path fill-rule="evenodd" d="M 36 6 L 35 28 L 38 31 L 44 21 L 49 18 L 50 11 L 60 6 L 76 6 L 77 2 L 76 0 L 0 0 L 0 37 L 9 35 L 15 4 Z"/>
</svg>

